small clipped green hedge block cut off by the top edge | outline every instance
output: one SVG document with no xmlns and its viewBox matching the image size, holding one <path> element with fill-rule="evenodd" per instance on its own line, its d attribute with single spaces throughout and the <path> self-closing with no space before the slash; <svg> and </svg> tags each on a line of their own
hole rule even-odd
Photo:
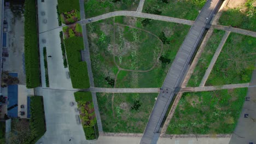
<svg viewBox="0 0 256 144">
<path fill-rule="evenodd" d="M 58 0 L 59 13 L 65 13 L 73 9 L 80 11 L 79 0 Z"/>
</svg>

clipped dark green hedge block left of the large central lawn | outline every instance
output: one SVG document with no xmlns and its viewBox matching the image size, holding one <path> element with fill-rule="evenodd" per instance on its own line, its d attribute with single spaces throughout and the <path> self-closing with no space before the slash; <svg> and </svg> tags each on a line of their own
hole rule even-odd
<svg viewBox="0 0 256 144">
<path fill-rule="evenodd" d="M 90 82 L 86 62 L 82 62 L 80 51 L 84 49 L 83 37 L 64 40 L 68 60 L 69 74 L 73 88 L 89 88 Z"/>
</svg>

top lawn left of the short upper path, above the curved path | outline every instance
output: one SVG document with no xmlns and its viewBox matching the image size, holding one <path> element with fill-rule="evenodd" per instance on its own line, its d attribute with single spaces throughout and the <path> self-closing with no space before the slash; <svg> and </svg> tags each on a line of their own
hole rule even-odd
<svg viewBox="0 0 256 144">
<path fill-rule="evenodd" d="M 138 3 L 138 0 L 85 0 L 84 10 L 86 17 L 94 17 L 118 10 L 136 11 Z"/>
</svg>

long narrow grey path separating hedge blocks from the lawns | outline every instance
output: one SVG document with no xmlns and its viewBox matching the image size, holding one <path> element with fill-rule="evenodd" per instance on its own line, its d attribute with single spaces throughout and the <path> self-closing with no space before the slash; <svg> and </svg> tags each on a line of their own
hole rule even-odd
<svg viewBox="0 0 256 144">
<path fill-rule="evenodd" d="M 81 19 L 85 19 L 84 1 L 79 0 L 79 4 L 80 4 L 80 15 L 83 16 Z M 83 32 L 83 39 L 84 39 L 84 51 L 82 53 L 83 60 L 85 60 L 87 63 L 90 86 L 94 87 L 94 76 L 92 75 L 92 70 L 91 70 L 90 49 L 89 49 L 89 44 L 88 44 L 86 25 L 82 26 L 82 32 Z M 100 110 L 98 109 L 97 96 L 96 96 L 96 93 L 94 93 L 94 92 L 92 92 L 91 94 L 92 94 L 92 101 L 94 102 L 94 110 L 95 110 L 95 115 L 96 115 L 96 119 L 97 119 L 98 131 L 101 134 L 103 129 L 102 129 L 102 123 L 101 123 Z"/>
</svg>

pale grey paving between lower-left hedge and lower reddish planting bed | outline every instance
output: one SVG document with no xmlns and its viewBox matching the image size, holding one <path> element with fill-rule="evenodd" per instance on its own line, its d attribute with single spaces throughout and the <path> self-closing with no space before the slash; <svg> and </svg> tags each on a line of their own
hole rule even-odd
<svg viewBox="0 0 256 144">
<path fill-rule="evenodd" d="M 75 101 L 74 92 L 37 88 L 36 95 L 43 95 L 46 132 L 37 142 L 60 143 L 87 143 L 81 124 L 77 124 L 75 107 L 69 105 Z M 72 139 L 69 142 L 69 139 Z"/>
</svg>

